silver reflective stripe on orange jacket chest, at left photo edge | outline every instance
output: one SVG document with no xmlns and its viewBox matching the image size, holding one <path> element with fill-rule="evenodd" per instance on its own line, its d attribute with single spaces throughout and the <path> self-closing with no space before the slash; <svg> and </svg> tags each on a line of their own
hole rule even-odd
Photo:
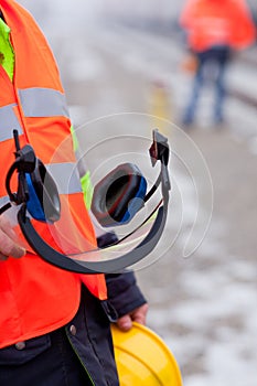
<svg viewBox="0 0 257 386">
<path fill-rule="evenodd" d="M 13 111 L 15 104 L 0 107 L 0 141 L 6 141 L 13 138 L 12 131 L 18 130 L 19 135 L 22 133 L 22 128 Z"/>
</svg>

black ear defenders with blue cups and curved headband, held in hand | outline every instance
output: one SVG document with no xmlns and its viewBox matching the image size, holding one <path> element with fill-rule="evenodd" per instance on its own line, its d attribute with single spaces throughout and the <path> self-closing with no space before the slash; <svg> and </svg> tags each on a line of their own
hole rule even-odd
<svg viewBox="0 0 257 386">
<path fill-rule="evenodd" d="M 107 247 L 82 253 L 82 255 L 97 253 L 98 250 L 108 249 L 121 243 L 140 228 L 158 211 L 149 233 L 132 250 L 113 260 L 104 261 L 82 261 L 81 259 L 76 260 L 61 254 L 46 244 L 35 230 L 30 216 L 46 223 L 58 221 L 61 216 L 61 204 L 57 186 L 44 164 L 35 157 L 32 147 L 26 144 L 20 149 L 18 132 L 14 130 L 13 135 L 17 147 L 15 161 L 8 171 L 6 187 L 10 202 L 21 204 L 18 212 L 20 228 L 29 245 L 39 256 L 58 268 L 73 272 L 114 274 L 135 265 L 152 251 L 164 229 L 171 187 L 168 172 L 170 153 L 168 140 L 157 129 L 153 130 L 153 141 L 149 153 L 152 167 L 160 161 L 161 168 L 154 185 L 148 193 L 146 179 L 138 167 L 132 163 L 118 165 L 95 186 L 92 212 L 104 227 L 129 223 L 160 184 L 162 192 L 162 199 L 156 210 L 135 230 Z M 10 189 L 10 181 L 14 171 L 18 172 L 17 193 L 12 193 Z M 0 214 L 10 206 L 11 203 L 2 206 Z"/>
</svg>

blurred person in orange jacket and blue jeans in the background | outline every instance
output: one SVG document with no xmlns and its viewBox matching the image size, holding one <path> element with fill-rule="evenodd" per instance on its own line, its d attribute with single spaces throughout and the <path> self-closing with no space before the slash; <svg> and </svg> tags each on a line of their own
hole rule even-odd
<svg viewBox="0 0 257 386">
<path fill-rule="evenodd" d="M 256 41 L 251 14 L 245 0 L 188 0 L 180 24 L 186 31 L 188 47 L 196 62 L 192 94 L 182 124 L 194 122 L 200 92 L 211 77 L 215 84 L 213 120 L 218 126 L 224 122 L 224 75 L 232 52 Z"/>
</svg>

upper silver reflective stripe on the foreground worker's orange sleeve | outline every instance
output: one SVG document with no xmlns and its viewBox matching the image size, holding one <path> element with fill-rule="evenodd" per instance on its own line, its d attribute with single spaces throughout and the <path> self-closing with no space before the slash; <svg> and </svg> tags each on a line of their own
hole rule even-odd
<svg viewBox="0 0 257 386">
<path fill-rule="evenodd" d="M 53 88 L 19 89 L 19 96 L 25 117 L 68 117 L 64 94 Z"/>
</svg>

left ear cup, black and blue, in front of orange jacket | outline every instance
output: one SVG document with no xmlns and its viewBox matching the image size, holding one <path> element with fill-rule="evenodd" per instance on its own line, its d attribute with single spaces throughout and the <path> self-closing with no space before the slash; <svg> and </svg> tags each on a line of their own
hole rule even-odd
<svg viewBox="0 0 257 386">
<path fill-rule="evenodd" d="M 30 200 L 28 211 L 42 222 L 54 223 L 60 218 L 61 203 L 57 186 L 41 160 L 36 159 L 35 169 L 26 174 Z"/>
</svg>

